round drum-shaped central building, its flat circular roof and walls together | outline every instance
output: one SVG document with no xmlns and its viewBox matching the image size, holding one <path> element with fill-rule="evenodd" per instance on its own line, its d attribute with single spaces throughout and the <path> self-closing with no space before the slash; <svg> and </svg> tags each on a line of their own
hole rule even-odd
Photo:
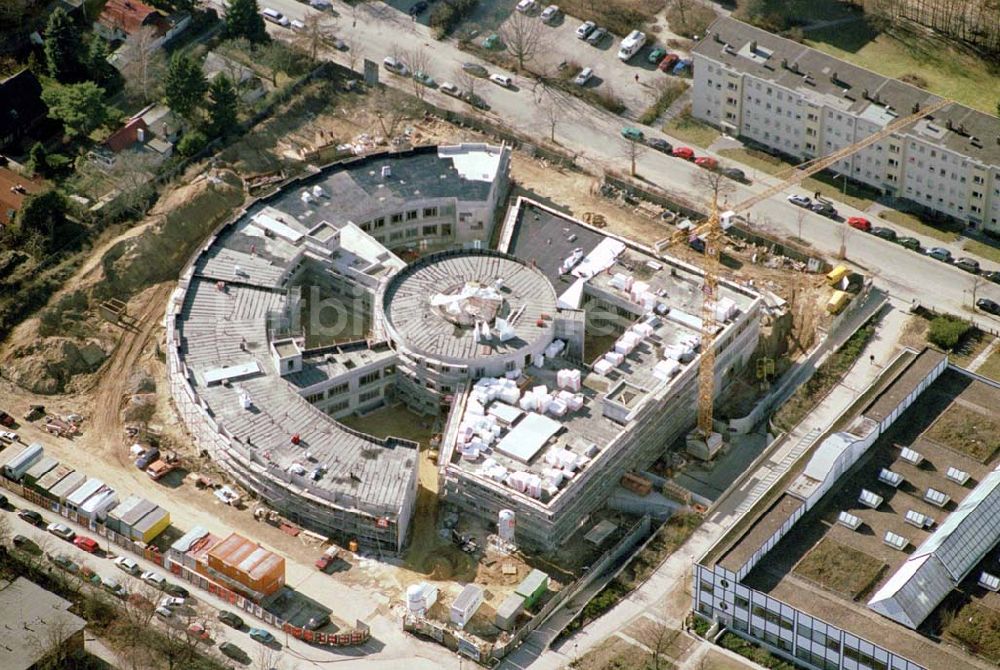
<svg viewBox="0 0 1000 670">
<path fill-rule="evenodd" d="M 466 381 L 516 378 L 557 337 L 556 292 L 525 261 L 471 249 L 407 266 L 378 296 L 398 355 L 396 392 L 436 412 Z"/>
</svg>

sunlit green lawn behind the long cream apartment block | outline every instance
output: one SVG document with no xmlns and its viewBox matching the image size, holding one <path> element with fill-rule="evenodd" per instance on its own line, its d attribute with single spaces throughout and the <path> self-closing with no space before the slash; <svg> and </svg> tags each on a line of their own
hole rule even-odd
<svg viewBox="0 0 1000 670">
<path fill-rule="evenodd" d="M 917 75 L 931 93 L 996 114 L 1000 70 L 946 40 L 893 29 L 878 33 L 859 20 L 806 32 L 806 44 L 887 77 Z"/>
</svg>

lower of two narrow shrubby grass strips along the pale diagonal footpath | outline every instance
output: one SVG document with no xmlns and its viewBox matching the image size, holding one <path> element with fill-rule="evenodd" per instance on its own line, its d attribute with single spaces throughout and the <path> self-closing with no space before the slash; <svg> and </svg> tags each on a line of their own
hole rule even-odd
<svg viewBox="0 0 1000 670">
<path fill-rule="evenodd" d="M 691 537 L 695 529 L 701 525 L 701 521 L 702 517 L 692 512 L 680 512 L 670 517 L 656 531 L 653 540 L 632 558 L 621 574 L 591 598 L 563 634 L 571 633 L 598 618 L 646 581 L 667 556 L 677 551 L 678 547 Z"/>
</svg>

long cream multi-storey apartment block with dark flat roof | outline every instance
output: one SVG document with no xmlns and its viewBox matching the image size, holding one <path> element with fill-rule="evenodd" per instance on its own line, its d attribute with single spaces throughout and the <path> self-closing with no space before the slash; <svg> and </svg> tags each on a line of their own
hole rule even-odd
<svg viewBox="0 0 1000 670">
<path fill-rule="evenodd" d="M 805 161 L 940 98 L 731 18 L 693 50 L 692 114 Z M 1000 119 L 958 104 L 835 163 L 836 175 L 1000 233 Z"/>
</svg>

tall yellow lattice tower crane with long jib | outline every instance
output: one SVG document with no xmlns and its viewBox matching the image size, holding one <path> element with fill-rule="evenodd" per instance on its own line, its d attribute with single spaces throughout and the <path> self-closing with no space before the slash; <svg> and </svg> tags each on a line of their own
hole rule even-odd
<svg viewBox="0 0 1000 670">
<path fill-rule="evenodd" d="M 768 198 L 781 193 L 785 189 L 795 186 L 806 177 L 825 170 L 834 163 L 841 161 L 848 156 L 871 146 L 876 142 L 885 139 L 889 135 L 903 129 L 904 127 L 919 121 L 920 119 L 933 114 L 942 107 L 951 104 L 950 100 L 939 99 L 926 107 L 915 107 L 909 116 L 896 119 L 882 130 L 869 135 L 868 137 L 855 142 L 843 149 L 819 158 L 813 158 L 799 165 L 792 166 L 784 170 L 775 177 L 777 183 L 768 186 L 756 195 L 740 202 L 726 212 L 727 217 L 735 217 L 740 212 L 745 212 L 754 205 L 767 200 Z M 662 252 L 673 244 L 700 237 L 705 242 L 705 285 L 702 288 L 704 300 L 702 302 L 702 338 L 701 338 L 701 365 L 698 369 L 698 428 L 697 437 L 706 442 L 711 440 L 713 404 L 715 402 L 715 347 L 714 338 L 717 330 L 715 318 L 716 291 L 718 290 L 718 264 L 719 246 L 722 242 L 723 229 L 719 218 L 719 204 L 713 197 L 710 203 L 708 220 L 694 230 L 677 231 L 670 237 L 658 241 L 655 245 L 657 252 Z"/>
</svg>

